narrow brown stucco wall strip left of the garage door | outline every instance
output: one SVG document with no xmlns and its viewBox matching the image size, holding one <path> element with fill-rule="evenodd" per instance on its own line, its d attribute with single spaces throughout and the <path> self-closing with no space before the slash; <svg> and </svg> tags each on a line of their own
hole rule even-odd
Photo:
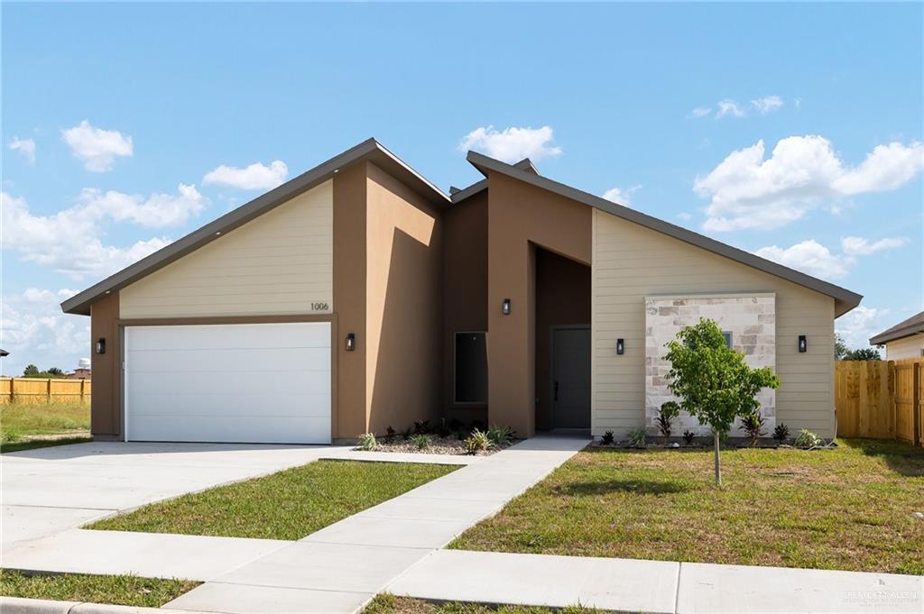
<svg viewBox="0 0 924 614">
<path fill-rule="evenodd" d="M 90 356 L 93 394 L 90 431 L 96 439 L 116 439 L 122 434 L 122 342 L 119 334 L 118 292 L 104 296 L 90 307 Z M 106 340 L 106 353 L 96 354 L 94 345 Z"/>
</svg>

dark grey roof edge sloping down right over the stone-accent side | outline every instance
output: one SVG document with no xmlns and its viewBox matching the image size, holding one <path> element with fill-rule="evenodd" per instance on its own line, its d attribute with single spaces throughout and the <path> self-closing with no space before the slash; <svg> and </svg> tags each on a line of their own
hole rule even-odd
<svg viewBox="0 0 924 614">
<path fill-rule="evenodd" d="M 687 230 L 686 228 L 677 226 L 673 223 L 664 222 L 658 218 L 646 215 L 641 211 L 636 211 L 634 209 L 629 209 L 628 207 L 618 205 L 611 200 L 602 199 L 599 196 L 594 196 L 593 194 L 583 192 L 577 188 L 566 186 L 565 184 L 553 181 L 552 179 L 543 177 L 536 173 L 528 173 L 518 169 L 512 164 L 494 160 L 493 158 L 489 158 L 488 156 L 476 151 L 469 151 L 467 159 L 469 163 L 474 165 L 475 168 L 477 168 L 481 174 L 485 175 L 486 177 L 488 177 L 490 173 L 500 173 L 502 175 L 507 175 L 509 177 L 519 179 L 520 181 L 528 183 L 532 186 L 541 187 L 542 189 L 546 189 L 550 192 L 554 192 L 555 194 L 564 196 L 567 199 L 577 200 L 577 202 L 582 202 L 586 205 L 590 205 L 590 207 L 594 207 L 601 211 L 606 211 L 607 213 L 612 213 L 613 215 L 623 218 L 624 220 L 637 223 L 638 225 L 650 228 L 651 230 L 656 230 L 659 233 L 663 233 L 664 235 L 673 236 L 675 239 L 679 239 L 689 243 L 690 245 L 707 249 L 725 258 L 737 260 L 738 262 L 747 264 L 749 267 L 753 267 L 754 269 L 768 272 L 789 282 L 798 283 L 799 285 L 805 286 L 811 290 L 815 290 L 816 292 L 821 292 L 823 295 L 832 296 L 834 299 L 835 316 L 844 315 L 847 311 L 857 307 L 857 305 L 859 305 L 860 301 L 863 299 L 862 295 L 857 295 L 856 293 L 850 292 L 841 286 L 834 285 L 833 283 L 825 282 L 803 272 L 784 267 L 782 264 L 777 264 L 772 260 L 760 258 L 760 256 L 755 256 L 754 254 L 744 251 L 743 249 L 731 247 L 722 243 L 721 241 L 716 241 L 715 239 L 711 239 L 705 235 L 699 235 L 699 233 L 694 233 L 691 230 Z M 461 194 L 461 192 L 454 195 L 454 203 L 457 202 L 455 197 L 457 197 L 459 194 Z"/>
</svg>

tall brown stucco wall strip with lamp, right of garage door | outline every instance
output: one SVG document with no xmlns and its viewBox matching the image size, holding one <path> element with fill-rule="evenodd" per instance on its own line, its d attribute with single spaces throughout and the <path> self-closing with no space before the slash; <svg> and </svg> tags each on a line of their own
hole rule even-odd
<svg viewBox="0 0 924 614">
<path fill-rule="evenodd" d="M 366 163 L 334 175 L 334 439 L 366 431 Z M 346 334 L 357 338 L 346 351 Z"/>
</svg>

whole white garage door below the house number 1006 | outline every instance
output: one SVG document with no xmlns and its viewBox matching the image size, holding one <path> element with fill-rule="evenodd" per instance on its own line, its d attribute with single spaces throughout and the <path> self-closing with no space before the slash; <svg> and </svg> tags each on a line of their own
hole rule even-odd
<svg viewBox="0 0 924 614">
<path fill-rule="evenodd" d="M 329 322 L 125 329 L 131 441 L 331 442 Z"/>
</svg>

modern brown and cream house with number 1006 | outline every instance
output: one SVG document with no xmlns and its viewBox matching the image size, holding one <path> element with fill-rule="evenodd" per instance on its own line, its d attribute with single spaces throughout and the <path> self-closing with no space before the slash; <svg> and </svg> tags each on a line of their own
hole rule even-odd
<svg viewBox="0 0 924 614">
<path fill-rule="evenodd" d="M 369 139 L 69 298 L 98 439 L 326 443 L 414 421 L 651 426 L 700 317 L 783 379 L 769 425 L 834 435 L 860 295 L 475 152 L 447 196 Z M 682 427 L 699 428 L 687 418 Z"/>
</svg>

